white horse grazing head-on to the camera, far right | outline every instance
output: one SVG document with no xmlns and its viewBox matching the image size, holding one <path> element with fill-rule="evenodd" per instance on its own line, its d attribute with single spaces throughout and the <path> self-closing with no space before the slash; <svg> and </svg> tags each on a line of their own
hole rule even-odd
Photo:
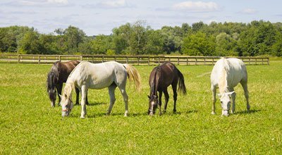
<svg viewBox="0 0 282 155">
<path fill-rule="evenodd" d="M 242 85 L 247 100 L 247 111 L 250 111 L 249 92 L 247 90 L 247 69 L 243 61 L 238 58 L 221 58 L 216 62 L 211 74 L 212 114 L 215 114 L 216 88 L 219 87 L 219 97 L 222 107 L 222 116 L 228 116 L 232 98 L 232 110 L 235 112 L 234 87 Z M 231 97 L 230 97 L 231 96 Z"/>
</svg>

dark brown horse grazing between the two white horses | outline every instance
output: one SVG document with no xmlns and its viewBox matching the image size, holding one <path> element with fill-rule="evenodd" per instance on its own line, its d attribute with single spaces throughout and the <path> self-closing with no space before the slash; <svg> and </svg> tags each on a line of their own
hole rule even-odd
<svg viewBox="0 0 282 155">
<path fill-rule="evenodd" d="M 176 90 L 177 84 L 178 91 Z M 166 101 L 166 103 L 164 104 L 164 112 L 166 112 L 166 106 L 169 98 L 167 87 L 169 85 L 171 85 L 173 89 L 173 112 L 176 112 L 177 92 L 181 91 L 183 94 L 186 94 L 184 77 L 183 74 L 180 73 L 180 71 L 176 68 L 176 66 L 173 65 L 173 63 L 163 63 L 161 64 L 161 66 L 155 67 L 149 76 L 150 94 L 148 95 L 148 114 L 150 116 L 154 115 L 157 106 L 159 106 L 159 115 L 161 115 L 161 96 L 163 92 Z M 159 92 L 159 97 L 157 92 Z"/>
</svg>

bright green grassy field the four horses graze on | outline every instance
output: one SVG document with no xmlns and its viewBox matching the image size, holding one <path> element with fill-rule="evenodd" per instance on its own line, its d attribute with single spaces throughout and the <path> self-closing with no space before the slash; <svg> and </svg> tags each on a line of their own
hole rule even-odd
<svg viewBox="0 0 282 155">
<path fill-rule="evenodd" d="M 68 118 L 61 118 L 61 107 L 51 108 L 45 89 L 51 65 L 0 63 L 0 154 L 282 154 L 282 61 L 270 63 L 247 66 L 250 113 L 238 85 L 236 113 L 221 117 L 217 101 L 212 116 L 212 66 L 178 66 L 188 88 L 187 96 L 178 96 L 178 113 L 169 87 L 168 112 L 149 117 L 154 66 L 135 66 L 142 92 L 128 85 L 129 117 L 118 90 L 105 116 L 108 90 L 91 89 L 85 119 L 80 106 Z"/>
</svg>

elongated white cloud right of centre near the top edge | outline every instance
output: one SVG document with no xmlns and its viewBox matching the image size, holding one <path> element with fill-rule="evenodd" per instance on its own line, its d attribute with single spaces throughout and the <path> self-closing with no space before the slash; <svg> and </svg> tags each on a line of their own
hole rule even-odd
<svg viewBox="0 0 282 155">
<path fill-rule="evenodd" d="M 218 11 L 219 6 L 214 2 L 202 2 L 202 1 L 183 1 L 172 6 L 174 10 L 184 10 L 191 12 L 208 12 Z"/>
</svg>

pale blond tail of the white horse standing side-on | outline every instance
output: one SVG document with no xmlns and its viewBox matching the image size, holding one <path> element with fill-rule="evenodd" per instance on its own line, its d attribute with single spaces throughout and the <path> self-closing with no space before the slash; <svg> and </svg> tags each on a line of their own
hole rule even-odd
<svg viewBox="0 0 282 155">
<path fill-rule="evenodd" d="M 141 91 L 141 77 L 138 73 L 138 70 L 131 65 L 123 64 L 125 67 L 126 72 L 128 73 L 128 79 L 130 81 L 134 81 L 135 87 L 137 88 L 138 92 Z"/>
</svg>

